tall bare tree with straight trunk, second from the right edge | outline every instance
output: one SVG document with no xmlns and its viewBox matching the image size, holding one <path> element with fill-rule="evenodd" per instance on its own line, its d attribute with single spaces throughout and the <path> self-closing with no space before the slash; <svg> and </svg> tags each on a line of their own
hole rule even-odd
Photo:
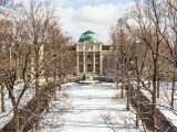
<svg viewBox="0 0 177 132">
<path fill-rule="evenodd" d="M 159 70 L 158 59 L 159 59 L 159 51 L 163 42 L 163 37 L 159 34 L 159 29 L 162 26 L 162 1 L 149 0 L 145 1 L 145 6 L 142 8 L 138 3 L 135 6 L 135 10 L 132 11 L 132 18 L 138 23 L 140 34 L 138 38 L 144 43 L 150 53 L 152 63 L 153 63 L 153 117 L 154 117 L 154 132 L 157 131 L 156 124 L 156 97 L 157 97 L 157 75 Z"/>
</svg>

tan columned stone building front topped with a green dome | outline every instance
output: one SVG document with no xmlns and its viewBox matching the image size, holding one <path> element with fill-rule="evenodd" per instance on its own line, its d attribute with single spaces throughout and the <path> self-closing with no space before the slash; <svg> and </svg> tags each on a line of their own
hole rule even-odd
<svg viewBox="0 0 177 132">
<path fill-rule="evenodd" d="M 84 32 L 76 46 L 76 73 L 103 74 L 103 59 L 113 54 L 110 45 L 104 45 L 97 34 L 92 31 Z"/>
</svg>

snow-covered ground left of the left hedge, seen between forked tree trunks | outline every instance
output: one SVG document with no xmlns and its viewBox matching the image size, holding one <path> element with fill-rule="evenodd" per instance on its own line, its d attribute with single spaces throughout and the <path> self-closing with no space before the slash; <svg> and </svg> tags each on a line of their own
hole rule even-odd
<svg viewBox="0 0 177 132">
<path fill-rule="evenodd" d="M 14 92 L 15 97 L 18 97 L 22 90 L 23 84 L 17 84 L 14 86 Z M 24 96 L 21 99 L 21 103 L 19 108 L 23 108 L 23 106 L 27 105 L 27 102 L 30 101 L 30 99 L 34 96 L 34 87 L 28 88 L 28 90 L 24 92 Z M 1 95 L 0 95 L 1 98 Z M 0 101 L 1 107 L 1 101 Z M 0 113 L 0 129 L 2 129 L 13 117 L 12 113 L 12 103 L 9 98 L 8 89 L 6 89 L 6 112 Z"/>
</svg>

